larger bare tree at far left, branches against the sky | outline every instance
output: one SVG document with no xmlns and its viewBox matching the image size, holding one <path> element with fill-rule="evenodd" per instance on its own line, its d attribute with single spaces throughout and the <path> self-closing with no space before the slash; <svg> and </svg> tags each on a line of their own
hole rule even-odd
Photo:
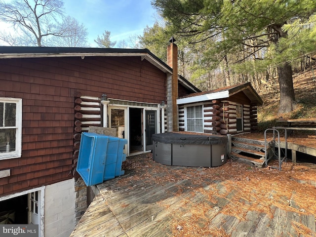
<svg viewBox="0 0 316 237">
<path fill-rule="evenodd" d="M 13 0 L 11 3 L 0 1 L 0 21 L 11 24 L 20 38 L 19 43 L 28 45 L 45 44 L 43 38 L 65 37 L 67 29 L 59 27 L 58 18 L 63 16 L 62 0 Z M 0 40 L 12 40 L 12 36 L 3 36 Z M 33 40 L 31 40 L 33 39 Z M 16 41 L 6 41 L 16 45 Z"/>
</svg>

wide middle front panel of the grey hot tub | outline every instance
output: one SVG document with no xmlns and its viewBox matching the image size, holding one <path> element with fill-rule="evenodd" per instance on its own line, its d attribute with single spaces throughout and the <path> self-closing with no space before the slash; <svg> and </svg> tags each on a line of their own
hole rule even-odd
<svg viewBox="0 0 316 237">
<path fill-rule="evenodd" d="M 211 145 L 172 144 L 172 165 L 211 167 Z"/>
</svg>

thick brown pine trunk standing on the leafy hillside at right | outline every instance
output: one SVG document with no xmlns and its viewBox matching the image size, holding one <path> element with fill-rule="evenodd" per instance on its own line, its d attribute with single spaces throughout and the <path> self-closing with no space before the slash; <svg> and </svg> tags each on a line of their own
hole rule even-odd
<svg viewBox="0 0 316 237">
<path fill-rule="evenodd" d="M 290 64 L 277 68 L 278 83 L 280 86 L 280 104 L 278 113 L 288 113 L 295 109 L 295 95 L 292 78 L 292 67 Z"/>
</svg>

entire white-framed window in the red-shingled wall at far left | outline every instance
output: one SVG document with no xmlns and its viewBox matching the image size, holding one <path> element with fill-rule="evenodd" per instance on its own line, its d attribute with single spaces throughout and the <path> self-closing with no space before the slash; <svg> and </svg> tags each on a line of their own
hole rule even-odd
<svg viewBox="0 0 316 237">
<path fill-rule="evenodd" d="M 22 99 L 0 97 L 0 159 L 21 157 Z"/>
</svg>

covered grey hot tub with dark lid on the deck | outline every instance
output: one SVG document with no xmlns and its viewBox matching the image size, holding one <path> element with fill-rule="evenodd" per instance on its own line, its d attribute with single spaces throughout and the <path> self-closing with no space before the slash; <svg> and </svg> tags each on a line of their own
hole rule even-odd
<svg viewBox="0 0 316 237">
<path fill-rule="evenodd" d="M 153 135 L 154 160 L 166 165 L 215 167 L 226 163 L 227 136 L 191 132 Z"/>
</svg>

